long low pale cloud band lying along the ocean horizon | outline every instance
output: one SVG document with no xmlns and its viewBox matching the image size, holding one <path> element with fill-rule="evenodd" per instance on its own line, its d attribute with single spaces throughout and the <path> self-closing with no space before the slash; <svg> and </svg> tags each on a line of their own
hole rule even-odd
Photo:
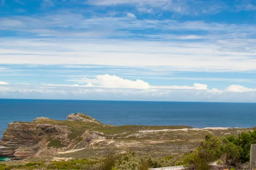
<svg viewBox="0 0 256 170">
<path fill-rule="evenodd" d="M 199 86 L 201 87 L 201 86 Z M 231 86 L 234 87 L 234 86 Z M 203 86 L 205 88 L 205 86 Z M 101 99 L 149 101 L 256 102 L 256 91 L 248 90 L 134 89 L 66 86 L 66 85 L 0 85 L 2 98 L 22 99 Z"/>
</svg>

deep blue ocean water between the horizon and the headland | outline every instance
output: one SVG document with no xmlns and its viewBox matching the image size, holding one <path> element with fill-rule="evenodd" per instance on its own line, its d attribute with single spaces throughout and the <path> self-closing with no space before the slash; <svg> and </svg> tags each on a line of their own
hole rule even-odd
<svg viewBox="0 0 256 170">
<path fill-rule="evenodd" d="M 9 122 L 65 120 L 70 113 L 110 125 L 256 126 L 256 103 L 0 99 L 0 138 Z"/>
</svg>

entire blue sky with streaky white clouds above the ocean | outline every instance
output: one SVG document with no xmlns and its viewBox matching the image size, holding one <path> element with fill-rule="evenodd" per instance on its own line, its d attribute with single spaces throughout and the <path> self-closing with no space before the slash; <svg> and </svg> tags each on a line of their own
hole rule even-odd
<svg viewBox="0 0 256 170">
<path fill-rule="evenodd" d="M 0 98 L 256 102 L 256 1 L 0 0 Z"/>
</svg>

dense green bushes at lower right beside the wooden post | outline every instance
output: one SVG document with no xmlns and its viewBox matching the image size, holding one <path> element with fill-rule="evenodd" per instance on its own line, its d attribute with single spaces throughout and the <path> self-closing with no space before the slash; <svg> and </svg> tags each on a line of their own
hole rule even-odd
<svg viewBox="0 0 256 170">
<path fill-rule="evenodd" d="M 209 170 L 212 162 L 221 162 L 224 159 L 227 165 L 235 165 L 250 160 L 250 145 L 256 144 L 256 130 L 253 132 L 242 132 L 238 137 L 230 135 L 226 138 L 212 136 L 205 140 L 189 155 L 183 164 L 189 170 Z"/>
</svg>

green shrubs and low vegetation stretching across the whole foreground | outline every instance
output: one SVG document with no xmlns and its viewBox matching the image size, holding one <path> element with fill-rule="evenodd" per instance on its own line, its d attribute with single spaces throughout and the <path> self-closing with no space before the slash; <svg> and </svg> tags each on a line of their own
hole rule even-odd
<svg viewBox="0 0 256 170">
<path fill-rule="evenodd" d="M 54 140 L 50 144 L 58 145 Z M 242 132 L 237 137 L 217 137 L 207 134 L 198 147 L 181 156 L 155 158 L 139 156 L 134 151 L 117 154 L 108 152 L 102 159 L 71 159 L 69 161 L 31 162 L 24 165 L 0 164 L 0 170 L 148 170 L 149 168 L 184 165 L 188 170 L 210 170 L 210 164 L 223 161 L 229 165 L 245 162 L 250 158 L 250 144 L 256 144 L 256 130 Z"/>
</svg>

